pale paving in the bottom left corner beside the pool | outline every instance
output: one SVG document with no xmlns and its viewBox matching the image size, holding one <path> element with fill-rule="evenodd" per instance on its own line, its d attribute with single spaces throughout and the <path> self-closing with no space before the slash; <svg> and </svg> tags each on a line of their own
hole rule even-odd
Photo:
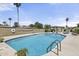
<svg viewBox="0 0 79 59">
<path fill-rule="evenodd" d="M 0 43 L 0 56 L 14 56 L 15 50 L 5 43 Z"/>
</svg>

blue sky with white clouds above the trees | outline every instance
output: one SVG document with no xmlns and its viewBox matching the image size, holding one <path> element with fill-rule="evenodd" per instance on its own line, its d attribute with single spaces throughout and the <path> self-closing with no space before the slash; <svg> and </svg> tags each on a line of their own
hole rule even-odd
<svg viewBox="0 0 79 59">
<path fill-rule="evenodd" d="M 20 8 L 20 24 L 29 25 L 35 22 L 52 26 L 65 26 L 68 17 L 68 26 L 74 27 L 79 23 L 78 3 L 22 3 Z M 12 25 L 17 22 L 16 7 L 10 3 L 0 3 L 0 23 L 12 18 Z"/>
</svg>

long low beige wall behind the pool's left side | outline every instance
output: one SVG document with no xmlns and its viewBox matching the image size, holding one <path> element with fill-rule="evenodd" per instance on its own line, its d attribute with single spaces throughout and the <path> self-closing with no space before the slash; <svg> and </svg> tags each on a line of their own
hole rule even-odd
<svg viewBox="0 0 79 59">
<path fill-rule="evenodd" d="M 12 28 L 0 28 L 0 36 L 9 36 L 9 35 L 16 35 L 16 34 L 26 34 L 26 33 L 36 33 L 36 32 L 43 32 L 44 29 L 23 29 L 23 28 L 15 28 L 16 32 L 13 34 L 11 32 Z"/>
</svg>

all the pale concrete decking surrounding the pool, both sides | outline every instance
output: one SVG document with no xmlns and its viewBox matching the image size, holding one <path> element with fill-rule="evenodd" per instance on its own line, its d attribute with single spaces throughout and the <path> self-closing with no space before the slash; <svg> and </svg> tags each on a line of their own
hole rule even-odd
<svg viewBox="0 0 79 59">
<path fill-rule="evenodd" d="M 38 33 L 36 33 L 38 34 Z M 30 34 L 24 35 L 16 35 L 16 36 L 8 36 L 4 37 L 5 41 L 11 38 L 26 36 Z M 60 56 L 79 56 L 79 35 L 74 36 L 71 34 L 67 34 L 65 39 L 61 43 L 61 51 L 59 52 Z M 15 56 L 15 50 L 8 46 L 6 43 L 0 43 L 0 55 L 1 56 Z M 49 52 L 44 54 L 43 56 L 57 56 L 53 52 Z"/>
</svg>

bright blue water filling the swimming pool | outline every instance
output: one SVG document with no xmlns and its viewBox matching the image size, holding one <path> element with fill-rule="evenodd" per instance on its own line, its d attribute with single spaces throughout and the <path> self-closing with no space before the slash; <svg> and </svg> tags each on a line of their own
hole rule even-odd
<svg viewBox="0 0 79 59">
<path fill-rule="evenodd" d="M 17 51 L 22 48 L 27 48 L 29 56 L 40 56 L 47 53 L 46 49 L 53 41 L 62 41 L 63 39 L 63 35 L 54 33 L 41 33 L 37 35 L 14 38 L 6 41 L 6 43 Z"/>
</svg>

